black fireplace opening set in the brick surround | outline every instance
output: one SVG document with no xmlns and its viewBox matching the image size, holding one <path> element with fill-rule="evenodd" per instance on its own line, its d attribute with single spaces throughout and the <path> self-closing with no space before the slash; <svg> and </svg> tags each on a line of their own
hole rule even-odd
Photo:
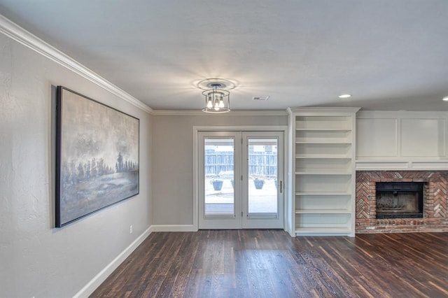
<svg viewBox="0 0 448 298">
<path fill-rule="evenodd" d="M 423 218 L 423 182 L 376 183 L 377 218 Z"/>
</svg>

